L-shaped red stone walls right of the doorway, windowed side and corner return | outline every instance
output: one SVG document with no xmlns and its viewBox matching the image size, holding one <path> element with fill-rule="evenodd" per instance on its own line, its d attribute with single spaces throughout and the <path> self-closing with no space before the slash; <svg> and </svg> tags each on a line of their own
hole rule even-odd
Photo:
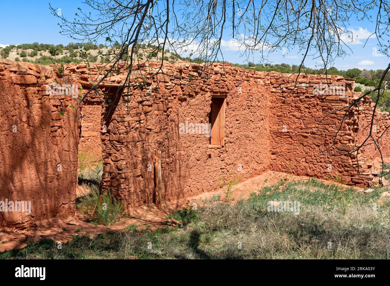
<svg viewBox="0 0 390 286">
<path fill-rule="evenodd" d="M 133 82 L 159 66 L 145 63 L 142 72 L 133 71 Z M 86 87 L 99 70 L 92 67 L 86 75 L 85 66 L 71 67 L 75 80 Z M 344 112 L 324 118 L 351 102 L 352 79 L 300 76 L 298 88 L 293 88 L 295 79 L 290 75 L 243 70 L 229 63 L 214 64 L 206 71 L 188 63 L 166 63 L 164 72 L 142 88 L 126 90 L 115 109 L 106 108 L 111 113 L 103 120 L 108 130 L 101 135 L 101 186 L 124 198 L 128 207 L 152 202 L 153 160 L 160 151 L 164 200 L 210 191 L 230 177 L 245 179 L 268 169 L 339 177 L 362 186 L 372 181 L 372 176 L 358 174 L 355 154 L 340 156 L 356 146 L 355 114 L 349 114 L 341 128 Z M 124 78 L 112 74 L 101 86 L 117 88 Z M 317 92 L 316 84 L 342 89 Z M 226 97 L 221 148 L 210 147 L 204 135 L 179 133 L 181 123 L 209 122 L 213 95 Z"/>
</svg>

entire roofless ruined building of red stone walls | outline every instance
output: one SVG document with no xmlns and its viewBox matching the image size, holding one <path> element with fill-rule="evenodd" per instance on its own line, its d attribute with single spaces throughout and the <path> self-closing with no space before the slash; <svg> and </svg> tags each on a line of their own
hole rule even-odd
<svg viewBox="0 0 390 286">
<path fill-rule="evenodd" d="M 126 90 L 125 67 L 112 73 L 78 109 L 72 94 L 50 92 L 53 82 L 74 84 L 82 96 L 108 67 L 69 64 L 60 74 L 54 65 L 0 60 L 0 201 L 32 203 L 28 215 L 0 212 L 2 226 L 74 215 L 79 151 L 103 160 L 101 189 L 124 200 L 126 208 L 189 197 L 218 189 L 221 180 L 245 180 L 266 170 L 340 175 L 361 187 L 375 183 L 375 146 L 358 158 L 333 156 L 365 139 L 371 101 L 344 120 L 344 111 L 324 118 L 357 96 L 353 79 L 301 75 L 296 85 L 289 74 L 230 63 L 204 70 L 181 62 L 164 63 L 164 73 L 143 81 L 158 67 L 138 66 Z M 82 119 L 75 119 L 76 111 Z M 378 111 L 374 136 L 389 123 L 388 113 Z M 390 157 L 388 133 L 380 142 L 383 156 Z M 161 193 L 155 188 L 156 156 Z"/>
</svg>

